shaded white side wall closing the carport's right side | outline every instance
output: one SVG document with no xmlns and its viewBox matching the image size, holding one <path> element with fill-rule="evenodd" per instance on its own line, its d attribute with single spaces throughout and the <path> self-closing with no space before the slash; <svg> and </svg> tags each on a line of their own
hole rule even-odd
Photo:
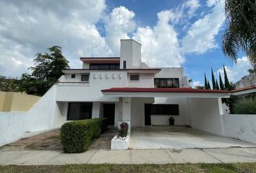
<svg viewBox="0 0 256 173">
<path fill-rule="evenodd" d="M 192 128 L 223 135 L 221 99 L 189 98 Z"/>
</svg>

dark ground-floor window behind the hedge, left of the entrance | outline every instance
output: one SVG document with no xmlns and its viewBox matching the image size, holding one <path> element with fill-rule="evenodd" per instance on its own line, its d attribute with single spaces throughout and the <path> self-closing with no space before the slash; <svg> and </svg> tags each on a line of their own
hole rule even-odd
<svg viewBox="0 0 256 173">
<path fill-rule="evenodd" d="M 92 118 L 92 102 L 69 102 L 67 120 L 85 120 Z"/>
</svg>

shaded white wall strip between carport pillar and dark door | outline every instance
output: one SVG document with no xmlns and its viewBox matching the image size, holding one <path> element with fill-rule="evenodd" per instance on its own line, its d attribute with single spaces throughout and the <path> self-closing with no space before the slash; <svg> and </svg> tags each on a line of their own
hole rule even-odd
<svg viewBox="0 0 256 173">
<path fill-rule="evenodd" d="M 153 103 L 154 98 L 132 98 L 132 127 L 145 126 L 145 103 Z"/>
</svg>

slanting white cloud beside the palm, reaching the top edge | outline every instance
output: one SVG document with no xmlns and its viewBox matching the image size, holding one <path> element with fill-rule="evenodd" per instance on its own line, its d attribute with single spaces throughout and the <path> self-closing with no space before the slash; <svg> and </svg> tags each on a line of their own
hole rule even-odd
<svg viewBox="0 0 256 173">
<path fill-rule="evenodd" d="M 182 53 L 205 53 L 218 48 L 215 37 L 225 21 L 223 2 L 219 1 L 213 7 L 213 12 L 198 19 L 182 38 Z"/>
</svg>

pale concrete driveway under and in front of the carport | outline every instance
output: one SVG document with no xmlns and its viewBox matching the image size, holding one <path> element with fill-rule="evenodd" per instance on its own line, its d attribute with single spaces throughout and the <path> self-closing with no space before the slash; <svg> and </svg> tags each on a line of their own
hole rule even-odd
<svg viewBox="0 0 256 173">
<path fill-rule="evenodd" d="M 256 147 L 256 144 L 183 126 L 132 128 L 130 149 Z"/>
</svg>

